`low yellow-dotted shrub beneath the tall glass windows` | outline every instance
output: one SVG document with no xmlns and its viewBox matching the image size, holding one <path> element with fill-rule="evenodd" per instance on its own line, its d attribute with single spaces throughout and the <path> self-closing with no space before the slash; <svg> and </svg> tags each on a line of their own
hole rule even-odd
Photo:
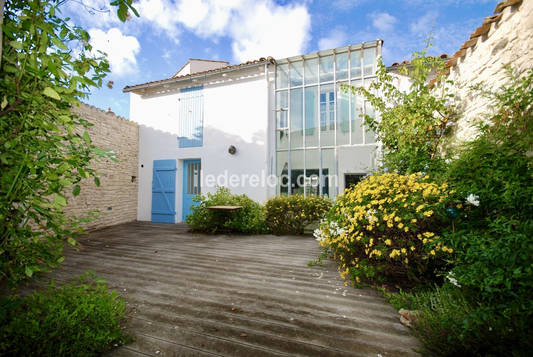
<svg viewBox="0 0 533 357">
<path fill-rule="evenodd" d="M 322 196 L 272 197 L 265 203 L 266 226 L 270 233 L 301 234 L 305 227 L 324 218 L 332 201 Z"/>
</svg>

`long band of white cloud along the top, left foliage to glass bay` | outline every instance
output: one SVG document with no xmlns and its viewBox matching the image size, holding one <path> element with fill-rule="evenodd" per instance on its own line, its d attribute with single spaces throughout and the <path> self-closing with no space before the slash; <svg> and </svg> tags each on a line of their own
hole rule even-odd
<svg viewBox="0 0 533 357">
<path fill-rule="evenodd" d="M 98 0 L 84 2 L 93 7 L 99 4 Z M 135 36 L 152 31 L 172 39 L 176 44 L 185 30 L 213 43 L 220 38 L 229 38 L 233 60 L 237 62 L 268 55 L 283 58 L 301 54 L 311 38 L 311 15 L 306 3 L 280 5 L 274 0 L 181 0 L 175 3 L 172 0 L 142 0 L 134 4 L 140 18 L 132 17 L 124 24 L 118 21 L 114 8 L 110 15 L 92 15 L 77 3 L 69 6 L 83 26 L 102 31 L 117 28 Z"/>
</svg>

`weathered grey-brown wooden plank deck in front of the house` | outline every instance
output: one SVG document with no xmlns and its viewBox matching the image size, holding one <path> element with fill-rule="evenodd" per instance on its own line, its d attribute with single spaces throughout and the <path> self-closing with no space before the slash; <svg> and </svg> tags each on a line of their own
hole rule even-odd
<svg viewBox="0 0 533 357">
<path fill-rule="evenodd" d="M 87 269 L 128 302 L 136 340 L 106 356 L 417 356 L 377 292 L 345 287 L 310 236 L 201 236 L 134 222 L 82 237 L 70 281 Z"/>
</svg>

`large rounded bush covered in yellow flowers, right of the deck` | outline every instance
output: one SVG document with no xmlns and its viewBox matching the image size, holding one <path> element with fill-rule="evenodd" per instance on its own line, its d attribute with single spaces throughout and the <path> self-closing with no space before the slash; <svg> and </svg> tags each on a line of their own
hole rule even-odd
<svg viewBox="0 0 533 357">
<path fill-rule="evenodd" d="M 343 279 L 418 281 L 435 257 L 453 252 L 435 234 L 449 194 L 421 172 L 374 174 L 337 197 L 314 236 L 334 253 Z"/>
</svg>

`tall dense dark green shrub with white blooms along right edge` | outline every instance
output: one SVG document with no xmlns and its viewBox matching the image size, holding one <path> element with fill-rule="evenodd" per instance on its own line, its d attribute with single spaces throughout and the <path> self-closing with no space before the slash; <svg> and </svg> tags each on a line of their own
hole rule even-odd
<svg viewBox="0 0 533 357">
<path fill-rule="evenodd" d="M 510 78 L 497 93 L 481 89 L 494 114 L 449 164 L 462 202 L 455 232 L 441 240 L 456 251 L 453 279 L 478 299 L 458 322 L 461 338 L 496 355 L 533 353 L 533 72 Z M 490 338 L 479 332 L 489 322 L 501 330 Z"/>
</svg>

